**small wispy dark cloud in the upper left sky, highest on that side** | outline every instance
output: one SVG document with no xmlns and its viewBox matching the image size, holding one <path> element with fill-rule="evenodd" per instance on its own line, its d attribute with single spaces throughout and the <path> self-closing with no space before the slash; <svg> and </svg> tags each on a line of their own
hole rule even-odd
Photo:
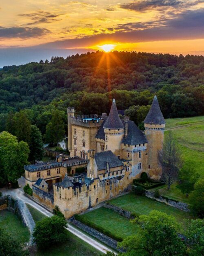
<svg viewBox="0 0 204 256">
<path fill-rule="evenodd" d="M 18 16 L 31 18 L 32 22 L 24 25 L 33 25 L 33 24 L 35 25 L 39 23 L 51 23 L 55 20 L 59 20 L 57 18 L 60 15 L 51 14 L 50 12 L 40 10 L 40 11 L 34 11 L 33 13 L 30 13 L 30 14 L 19 14 Z"/>
</svg>

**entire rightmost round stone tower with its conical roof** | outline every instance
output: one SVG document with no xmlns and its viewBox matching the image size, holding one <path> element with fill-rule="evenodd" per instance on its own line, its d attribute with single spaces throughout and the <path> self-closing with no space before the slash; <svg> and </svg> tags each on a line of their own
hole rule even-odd
<svg viewBox="0 0 204 256">
<path fill-rule="evenodd" d="M 145 134 L 148 141 L 147 168 L 149 175 L 153 179 L 159 179 L 162 174 L 158 161 L 158 151 L 162 150 L 163 147 L 165 123 L 157 96 L 155 95 L 149 113 L 144 119 Z"/>
</svg>

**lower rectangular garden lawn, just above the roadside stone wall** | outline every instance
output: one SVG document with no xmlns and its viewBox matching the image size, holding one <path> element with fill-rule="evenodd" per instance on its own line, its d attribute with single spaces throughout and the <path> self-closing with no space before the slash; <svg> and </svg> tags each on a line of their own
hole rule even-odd
<svg viewBox="0 0 204 256">
<path fill-rule="evenodd" d="M 89 221 L 91 224 L 94 224 L 95 227 L 103 228 L 104 231 L 120 239 L 124 239 L 137 232 L 137 225 L 132 224 L 129 219 L 108 208 L 100 207 L 80 215 L 80 217 L 82 222 Z"/>
</svg>

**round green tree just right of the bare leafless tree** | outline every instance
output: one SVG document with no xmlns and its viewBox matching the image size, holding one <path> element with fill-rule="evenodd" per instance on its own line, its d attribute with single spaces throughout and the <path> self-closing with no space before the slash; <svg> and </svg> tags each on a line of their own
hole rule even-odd
<svg viewBox="0 0 204 256">
<path fill-rule="evenodd" d="M 177 188 L 188 197 L 188 194 L 194 190 L 194 184 L 199 178 L 199 174 L 195 172 L 193 165 L 186 165 L 179 171 L 178 177 L 180 183 L 177 185 Z"/>
</svg>

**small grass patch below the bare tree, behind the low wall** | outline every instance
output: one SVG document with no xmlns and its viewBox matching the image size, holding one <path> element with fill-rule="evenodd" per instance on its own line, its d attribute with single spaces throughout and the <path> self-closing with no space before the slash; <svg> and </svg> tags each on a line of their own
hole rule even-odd
<svg viewBox="0 0 204 256">
<path fill-rule="evenodd" d="M 163 195 L 170 199 L 177 200 L 179 202 L 189 204 L 189 197 L 186 197 L 186 195 L 182 194 L 181 190 L 178 189 L 176 186 L 177 186 L 177 183 L 174 183 L 170 186 L 169 190 L 167 190 L 167 186 L 164 185 L 159 188 L 152 188 L 152 189 L 150 189 L 150 191 L 153 192 L 156 189 L 158 189 L 160 191 L 160 195 Z"/>
</svg>

